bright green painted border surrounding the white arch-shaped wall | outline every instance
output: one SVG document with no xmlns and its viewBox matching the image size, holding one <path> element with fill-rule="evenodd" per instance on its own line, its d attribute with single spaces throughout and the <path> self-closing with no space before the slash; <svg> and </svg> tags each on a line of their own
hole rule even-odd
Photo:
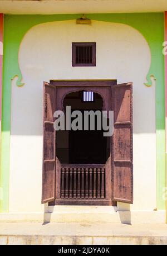
<svg viewBox="0 0 167 256">
<path fill-rule="evenodd" d="M 2 137 L 1 137 L 1 173 L 0 187 L 3 188 L 3 200 L 0 211 L 9 209 L 9 147 L 11 129 L 11 79 L 18 75 L 17 85 L 22 75 L 18 65 L 18 50 L 26 32 L 39 23 L 73 20 L 81 15 L 6 15 L 4 17 L 4 63 L 3 63 L 3 100 L 2 100 Z M 156 78 L 156 170 L 157 170 L 157 208 L 165 208 L 163 188 L 165 187 L 165 109 L 164 109 L 164 41 L 163 13 L 121 13 L 89 14 L 92 20 L 117 22 L 137 29 L 148 41 L 151 50 L 151 66 L 147 75 Z M 19 154 L 19 152 L 18 152 Z M 150 177 L 151 178 L 151 177 Z"/>
</svg>

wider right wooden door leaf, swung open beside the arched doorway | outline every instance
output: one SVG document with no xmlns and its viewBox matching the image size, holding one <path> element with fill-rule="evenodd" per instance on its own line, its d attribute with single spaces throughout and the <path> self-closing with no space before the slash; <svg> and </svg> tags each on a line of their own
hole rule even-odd
<svg viewBox="0 0 167 256">
<path fill-rule="evenodd" d="M 132 83 L 112 87 L 112 109 L 112 200 L 132 203 Z"/>
</svg>

